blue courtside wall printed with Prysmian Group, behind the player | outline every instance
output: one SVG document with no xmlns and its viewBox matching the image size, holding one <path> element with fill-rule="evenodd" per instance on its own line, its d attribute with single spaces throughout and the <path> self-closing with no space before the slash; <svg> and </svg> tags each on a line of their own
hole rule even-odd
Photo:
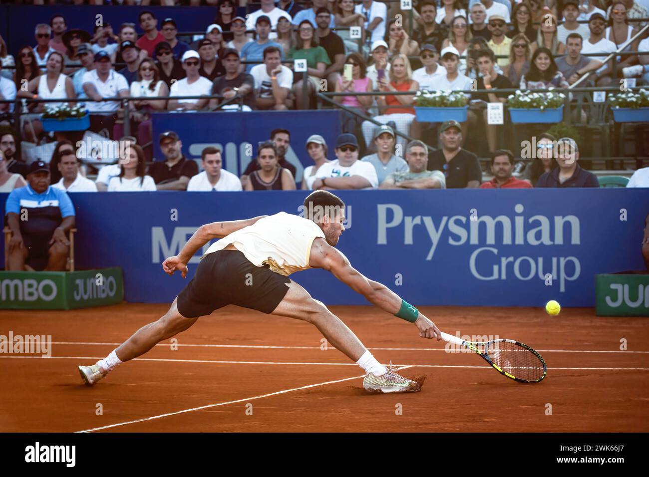
<svg viewBox="0 0 649 477">
<path fill-rule="evenodd" d="M 594 306 L 594 275 L 644 268 L 648 189 L 339 195 L 350 222 L 338 248 L 361 273 L 415 305 L 542 306 L 556 299 L 562 306 Z M 303 191 L 72 194 L 76 263 L 79 269 L 121 267 L 127 301 L 171 302 L 194 275 L 201 252 L 186 280 L 165 275 L 160 263 L 200 225 L 282 210 L 299 214 L 304 197 Z M 367 303 L 326 271 L 291 278 L 326 304 Z"/>
</svg>

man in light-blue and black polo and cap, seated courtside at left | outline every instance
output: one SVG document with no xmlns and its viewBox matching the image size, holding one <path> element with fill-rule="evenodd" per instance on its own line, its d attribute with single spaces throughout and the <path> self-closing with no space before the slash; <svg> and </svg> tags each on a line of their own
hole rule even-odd
<svg viewBox="0 0 649 477">
<path fill-rule="evenodd" d="M 75 208 L 64 191 L 50 187 L 45 162 L 32 162 L 27 186 L 11 191 L 5 210 L 12 232 L 6 269 L 64 271 L 69 253 L 67 233 L 75 226 Z M 29 220 L 21 220 L 22 214 Z"/>
</svg>

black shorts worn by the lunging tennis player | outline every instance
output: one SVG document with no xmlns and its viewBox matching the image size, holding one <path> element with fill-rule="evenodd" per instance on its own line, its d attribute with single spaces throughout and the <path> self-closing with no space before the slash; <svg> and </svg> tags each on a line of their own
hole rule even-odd
<svg viewBox="0 0 649 477">
<path fill-rule="evenodd" d="M 290 281 L 267 266 L 252 265 L 237 250 L 219 250 L 199 262 L 196 275 L 178 295 L 178 312 L 196 318 L 232 304 L 272 313 Z"/>
</svg>

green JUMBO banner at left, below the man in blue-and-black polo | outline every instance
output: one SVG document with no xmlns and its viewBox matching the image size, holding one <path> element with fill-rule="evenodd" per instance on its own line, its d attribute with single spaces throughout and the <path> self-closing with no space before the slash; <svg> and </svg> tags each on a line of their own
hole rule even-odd
<svg viewBox="0 0 649 477">
<path fill-rule="evenodd" d="M 120 268 L 75 272 L 0 271 L 0 308 L 70 310 L 121 302 Z"/>
</svg>

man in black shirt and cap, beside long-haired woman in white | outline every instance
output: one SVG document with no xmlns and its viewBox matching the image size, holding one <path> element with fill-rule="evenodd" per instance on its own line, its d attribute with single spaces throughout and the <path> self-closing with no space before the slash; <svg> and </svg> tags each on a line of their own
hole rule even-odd
<svg viewBox="0 0 649 477">
<path fill-rule="evenodd" d="M 199 173 L 199 166 L 182 154 L 182 141 L 174 131 L 160 134 L 160 150 L 164 161 L 155 161 L 149 167 L 158 190 L 186 190 L 190 179 Z"/>
</svg>

